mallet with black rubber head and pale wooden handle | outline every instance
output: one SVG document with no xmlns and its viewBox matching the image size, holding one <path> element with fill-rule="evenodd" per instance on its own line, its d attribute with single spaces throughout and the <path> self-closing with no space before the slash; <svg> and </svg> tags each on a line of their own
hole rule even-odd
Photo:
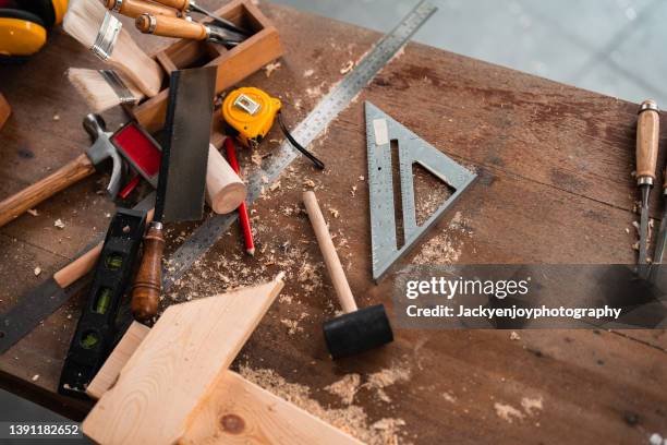
<svg viewBox="0 0 667 445">
<path fill-rule="evenodd" d="M 353 356 L 393 341 L 393 333 L 383 304 L 357 309 L 345 279 L 329 229 L 322 215 L 315 193 L 305 192 L 303 203 L 313 225 L 319 250 L 344 314 L 324 324 L 329 353 L 336 359 Z"/>
</svg>

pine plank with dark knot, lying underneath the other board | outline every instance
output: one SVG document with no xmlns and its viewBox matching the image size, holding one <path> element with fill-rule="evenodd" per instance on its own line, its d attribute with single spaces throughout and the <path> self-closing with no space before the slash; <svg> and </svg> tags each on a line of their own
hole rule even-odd
<svg viewBox="0 0 667 445">
<path fill-rule="evenodd" d="M 90 382 L 86 390 L 90 397 L 100 398 L 116 384 L 149 330 L 141 323 L 132 323 Z M 225 372 L 179 443 L 361 444 L 232 371 Z"/>
</svg>

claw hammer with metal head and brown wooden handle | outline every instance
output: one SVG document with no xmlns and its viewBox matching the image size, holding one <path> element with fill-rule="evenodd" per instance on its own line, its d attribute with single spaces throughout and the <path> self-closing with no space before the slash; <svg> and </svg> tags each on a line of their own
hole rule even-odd
<svg viewBox="0 0 667 445">
<path fill-rule="evenodd" d="M 0 227 L 61 190 L 93 175 L 95 169 L 109 158 L 113 161 L 113 167 L 107 192 L 112 197 L 116 196 L 120 188 L 122 160 L 110 141 L 112 134 L 107 132 L 105 121 L 98 115 L 87 115 L 83 125 L 93 139 L 90 148 L 52 175 L 0 202 Z"/>
</svg>

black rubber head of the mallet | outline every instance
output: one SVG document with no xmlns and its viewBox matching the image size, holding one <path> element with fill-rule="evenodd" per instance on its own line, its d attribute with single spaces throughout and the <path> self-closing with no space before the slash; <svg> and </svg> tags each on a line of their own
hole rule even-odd
<svg viewBox="0 0 667 445">
<path fill-rule="evenodd" d="M 324 334 L 333 360 L 393 341 L 389 318 L 381 304 L 360 309 L 326 322 Z"/>
</svg>

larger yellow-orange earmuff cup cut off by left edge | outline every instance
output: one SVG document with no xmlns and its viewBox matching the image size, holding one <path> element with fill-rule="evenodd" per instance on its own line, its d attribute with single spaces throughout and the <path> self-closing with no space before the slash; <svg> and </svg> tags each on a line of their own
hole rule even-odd
<svg viewBox="0 0 667 445">
<path fill-rule="evenodd" d="M 46 44 L 47 32 L 36 23 L 0 17 L 0 55 L 31 56 Z"/>
</svg>

